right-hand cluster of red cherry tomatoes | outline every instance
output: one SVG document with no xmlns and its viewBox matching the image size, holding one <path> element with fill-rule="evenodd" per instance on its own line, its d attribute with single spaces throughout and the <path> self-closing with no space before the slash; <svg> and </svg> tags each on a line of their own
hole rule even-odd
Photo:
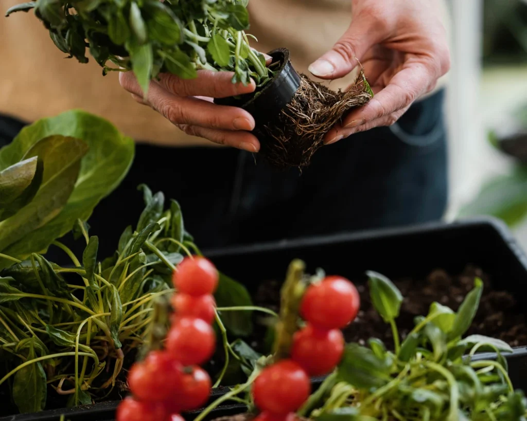
<svg viewBox="0 0 527 421">
<path fill-rule="evenodd" d="M 344 352 L 340 328 L 351 323 L 360 306 L 349 280 L 328 276 L 310 285 L 300 303 L 306 326 L 293 337 L 291 356 L 266 367 L 256 378 L 252 396 L 261 413 L 256 421 L 293 421 L 309 397 L 309 376 L 328 374 Z"/>
</svg>

